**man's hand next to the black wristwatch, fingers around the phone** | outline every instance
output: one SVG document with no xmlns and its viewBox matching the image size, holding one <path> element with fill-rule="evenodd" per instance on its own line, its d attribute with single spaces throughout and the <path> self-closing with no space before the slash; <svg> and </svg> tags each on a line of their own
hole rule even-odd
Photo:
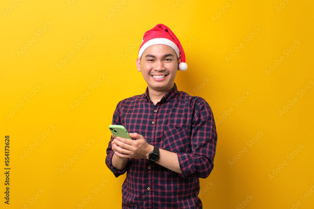
<svg viewBox="0 0 314 209">
<path fill-rule="evenodd" d="M 112 150 L 119 158 L 148 159 L 148 154 L 154 146 L 147 144 L 144 137 L 138 133 L 130 133 L 136 140 L 117 137 L 112 140 Z"/>
</svg>

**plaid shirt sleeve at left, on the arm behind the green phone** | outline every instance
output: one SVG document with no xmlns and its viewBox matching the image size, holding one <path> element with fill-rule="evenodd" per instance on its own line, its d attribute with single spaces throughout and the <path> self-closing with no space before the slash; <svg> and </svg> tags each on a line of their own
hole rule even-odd
<svg viewBox="0 0 314 209">
<path fill-rule="evenodd" d="M 112 117 L 112 124 L 114 125 L 122 125 L 121 124 L 121 117 L 120 117 L 120 107 L 121 107 L 121 102 L 119 102 L 116 106 L 116 110 L 113 113 L 113 117 Z M 108 148 L 106 150 L 107 156 L 106 156 L 106 165 L 107 167 L 112 171 L 112 173 L 118 177 L 122 174 L 124 174 L 127 169 L 128 169 L 128 165 L 122 169 L 122 170 L 116 170 L 113 168 L 112 166 L 112 156 L 114 154 L 114 151 L 112 150 L 112 146 L 111 146 L 111 142 L 113 140 L 113 137 L 111 136 L 110 142 L 108 143 Z"/>
</svg>

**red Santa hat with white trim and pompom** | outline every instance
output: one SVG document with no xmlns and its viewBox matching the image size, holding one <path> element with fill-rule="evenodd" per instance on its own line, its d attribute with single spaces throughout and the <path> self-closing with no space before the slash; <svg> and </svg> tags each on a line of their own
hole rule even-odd
<svg viewBox="0 0 314 209">
<path fill-rule="evenodd" d="M 170 28 L 168 28 L 164 24 L 157 24 L 153 29 L 145 32 L 142 44 L 138 50 L 138 58 L 141 59 L 144 51 L 148 47 L 155 44 L 164 44 L 170 46 L 173 50 L 175 50 L 178 59 L 181 55 L 181 63 L 179 64 L 179 69 L 181 71 L 187 70 L 183 47 L 176 35 L 172 33 Z"/>
</svg>

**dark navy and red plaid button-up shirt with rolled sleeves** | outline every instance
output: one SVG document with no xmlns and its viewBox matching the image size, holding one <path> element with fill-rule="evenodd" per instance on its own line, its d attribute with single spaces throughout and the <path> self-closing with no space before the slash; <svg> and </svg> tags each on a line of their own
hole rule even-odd
<svg viewBox="0 0 314 209">
<path fill-rule="evenodd" d="M 116 177 L 127 172 L 122 208 L 202 208 L 199 178 L 208 177 L 213 170 L 217 144 L 213 113 L 203 98 L 178 91 L 175 84 L 154 105 L 147 88 L 144 94 L 118 103 L 112 124 L 143 135 L 148 144 L 177 153 L 183 173 L 146 159 L 129 159 L 126 168 L 117 171 L 111 164 L 110 141 L 106 165 Z"/>
</svg>

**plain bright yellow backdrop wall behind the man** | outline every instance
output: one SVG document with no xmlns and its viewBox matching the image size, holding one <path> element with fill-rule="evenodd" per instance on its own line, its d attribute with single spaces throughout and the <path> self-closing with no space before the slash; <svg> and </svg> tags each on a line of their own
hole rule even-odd
<svg viewBox="0 0 314 209">
<path fill-rule="evenodd" d="M 117 102 L 145 90 L 135 60 L 143 33 L 159 23 L 186 50 L 178 89 L 206 99 L 217 122 L 203 208 L 313 207 L 313 1 L 3 0 L 0 8 L 1 208 L 121 208 L 125 176 L 105 165 L 107 127 Z"/>
</svg>

